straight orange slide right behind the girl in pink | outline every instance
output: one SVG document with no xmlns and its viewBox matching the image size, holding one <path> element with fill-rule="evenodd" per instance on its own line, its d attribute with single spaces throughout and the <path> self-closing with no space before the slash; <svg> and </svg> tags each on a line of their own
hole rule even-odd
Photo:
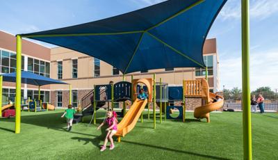
<svg viewBox="0 0 278 160">
<path fill-rule="evenodd" d="M 124 115 L 122 121 L 117 125 L 117 133 L 115 134 L 115 136 L 125 136 L 135 127 L 142 111 L 144 111 L 145 109 L 146 104 L 147 99 L 136 99 L 136 101 L 133 102 L 129 111 L 126 113 L 126 115 Z"/>
</svg>

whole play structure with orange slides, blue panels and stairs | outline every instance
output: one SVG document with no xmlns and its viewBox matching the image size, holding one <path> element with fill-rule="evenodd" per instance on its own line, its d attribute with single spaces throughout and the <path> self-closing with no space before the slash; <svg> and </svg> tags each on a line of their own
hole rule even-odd
<svg viewBox="0 0 278 160">
<path fill-rule="evenodd" d="M 206 79 L 196 80 L 184 80 L 183 86 L 168 86 L 167 83 L 160 82 L 155 83 L 155 74 L 153 79 L 133 79 L 131 82 L 120 81 L 115 84 L 95 85 L 94 90 L 85 95 L 81 100 L 80 109 L 81 112 L 74 115 L 74 121 L 80 122 L 84 116 L 91 115 L 92 119 L 90 123 L 96 124 L 97 110 L 107 104 L 107 109 L 114 109 L 115 102 L 123 102 L 122 111 L 124 113 L 122 121 L 118 124 L 118 141 L 120 137 L 124 137 L 131 131 L 138 119 L 141 117 L 145 106 L 148 106 L 148 118 L 149 118 L 149 104 L 153 103 L 153 118 L 154 128 L 156 128 L 156 105 L 159 107 L 160 122 L 164 118 L 166 119 L 182 119 L 186 121 L 186 98 L 199 98 L 202 99 L 202 105 L 197 107 L 194 111 L 194 116 L 197 119 L 206 118 L 207 122 L 210 122 L 209 113 L 220 109 L 223 105 L 223 97 L 220 97 L 219 102 L 212 103 L 213 97 L 216 95 L 209 93 L 208 82 Z M 144 86 L 138 85 L 142 83 Z M 143 88 L 148 93 L 148 99 L 139 101 L 137 99 L 138 90 Z M 156 93 L 158 93 L 156 95 Z M 126 113 L 126 101 L 133 102 L 129 111 Z M 181 106 L 174 106 L 175 102 L 181 102 Z M 109 105 L 111 104 L 111 105 Z M 171 104 L 171 105 L 170 105 Z M 174 109 L 179 110 L 179 116 L 172 118 L 170 113 Z"/>
</svg>

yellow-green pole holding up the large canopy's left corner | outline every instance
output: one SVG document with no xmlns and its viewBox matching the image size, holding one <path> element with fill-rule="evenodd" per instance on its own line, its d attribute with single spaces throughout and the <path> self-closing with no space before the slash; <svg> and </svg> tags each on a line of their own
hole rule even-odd
<svg viewBox="0 0 278 160">
<path fill-rule="evenodd" d="M 20 133 L 20 99 L 22 97 L 22 38 L 17 35 L 17 77 L 15 88 L 15 134 Z"/>
</svg>

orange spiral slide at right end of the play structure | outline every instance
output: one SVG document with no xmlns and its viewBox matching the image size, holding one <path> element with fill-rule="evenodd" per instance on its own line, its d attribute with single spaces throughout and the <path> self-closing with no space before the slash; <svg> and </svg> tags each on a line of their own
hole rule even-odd
<svg viewBox="0 0 278 160">
<path fill-rule="evenodd" d="M 212 101 L 212 97 L 215 97 L 216 95 L 213 93 L 209 93 L 209 101 Z M 194 110 L 194 117 L 197 119 L 201 119 L 201 118 L 206 118 L 206 122 L 211 122 L 210 118 L 209 118 L 209 113 L 211 111 L 215 111 L 217 109 L 221 109 L 223 104 L 224 104 L 224 98 L 220 95 L 218 95 L 221 100 L 219 102 L 210 102 L 209 104 L 206 104 L 204 106 L 199 106 Z"/>
</svg>

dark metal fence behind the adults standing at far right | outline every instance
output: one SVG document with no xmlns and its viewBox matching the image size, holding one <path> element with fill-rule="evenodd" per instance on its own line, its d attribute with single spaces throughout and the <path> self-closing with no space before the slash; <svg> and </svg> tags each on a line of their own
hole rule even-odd
<svg viewBox="0 0 278 160">
<path fill-rule="evenodd" d="M 252 93 L 251 95 L 262 94 L 265 98 L 265 110 L 278 111 L 278 93 Z M 223 93 L 224 95 L 224 109 L 242 110 L 242 94 Z"/>
</svg>

